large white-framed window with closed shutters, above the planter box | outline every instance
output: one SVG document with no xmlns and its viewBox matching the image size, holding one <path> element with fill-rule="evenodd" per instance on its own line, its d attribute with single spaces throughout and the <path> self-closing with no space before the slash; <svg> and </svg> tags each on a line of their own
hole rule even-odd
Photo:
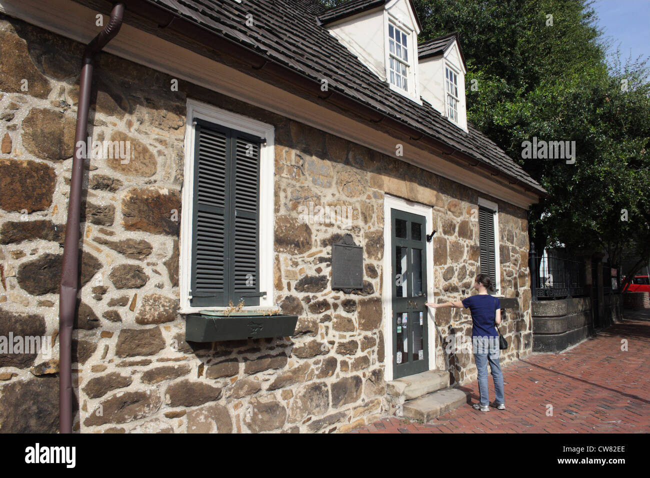
<svg viewBox="0 0 650 478">
<path fill-rule="evenodd" d="M 184 156 L 179 312 L 272 308 L 274 127 L 187 100 Z"/>
</svg>

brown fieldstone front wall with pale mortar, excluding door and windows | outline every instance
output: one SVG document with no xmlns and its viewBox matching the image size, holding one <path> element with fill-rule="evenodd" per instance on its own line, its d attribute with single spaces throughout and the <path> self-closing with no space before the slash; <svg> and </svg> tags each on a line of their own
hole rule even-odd
<svg viewBox="0 0 650 478">
<path fill-rule="evenodd" d="M 0 431 L 57 430 L 58 291 L 83 46 L 0 16 L 0 336 L 48 336 L 51 357 L 0 354 Z M 27 79 L 28 89 L 23 88 Z M 129 140 L 133 159 L 86 161 L 73 382 L 82 432 L 344 432 L 387 410 L 382 333 L 383 197 L 434 210 L 437 299 L 471 294 L 479 194 L 252 105 L 101 54 L 90 134 Z M 187 343 L 179 304 L 179 220 L 187 98 L 273 124 L 274 300 L 291 337 Z M 500 330 L 502 362 L 531 351 L 526 213 L 499 204 L 502 291 L 519 299 Z M 312 202 L 352 227 L 301 222 Z M 331 244 L 364 247 L 362 290 L 332 291 Z M 439 310 L 435 356 L 452 383 L 476 378 L 469 314 Z M 101 410 L 101 414 L 98 411 Z M 19 421 L 19 416 L 38 417 Z"/>
</svg>

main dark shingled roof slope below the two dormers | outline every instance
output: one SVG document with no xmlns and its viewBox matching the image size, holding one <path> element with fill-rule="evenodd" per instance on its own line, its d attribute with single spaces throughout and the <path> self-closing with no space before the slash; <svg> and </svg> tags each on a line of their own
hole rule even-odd
<svg viewBox="0 0 650 478">
<path fill-rule="evenodd" d="M 149 0 L 216 36 L 265 55 L 294 72 L 329 87 L 368 107 L 421 131 L 527 185 L 540 195 L 546 191 L 486 135 L 467 123 L 468 133 L 454 126 L 429 103 L 422 105 L 391 90 L 356 55 L 318 24 L 323 12 L 316 0 Z M 246 16 L 253 15 L 252 27 Z M 216 47 L 216 44 L 215 44 Z"/>
</svg>

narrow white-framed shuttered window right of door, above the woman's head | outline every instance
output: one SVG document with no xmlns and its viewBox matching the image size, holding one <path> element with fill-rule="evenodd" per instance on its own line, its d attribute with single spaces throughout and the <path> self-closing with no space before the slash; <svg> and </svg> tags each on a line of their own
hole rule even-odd
<svg viewBox="0 0 650 478">
<path fill-rule="evenodd" d="M 494 295 L 501 294 L 501 267 L 499 257 L 499 205 L 478 198 L 479 270 L 488 274 L 494 284 Z"/>
</svg>

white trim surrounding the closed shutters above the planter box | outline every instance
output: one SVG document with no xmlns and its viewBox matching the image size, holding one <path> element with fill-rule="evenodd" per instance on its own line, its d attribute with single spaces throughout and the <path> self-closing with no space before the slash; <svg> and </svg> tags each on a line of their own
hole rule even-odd
<svg viewBox="0 0 650 478">
<path fill-rule="evenodd" d="M 231 113 L 196 100 L 187 100 L 185 122 L 185 167 L 183 170 L 183 204 L 181 209 L 181 236 L 179 243 L 179 287 L 181 290 L 180 313 L 196 313 L 200 310 L 224 310 L 226 307 L 190 306 L 190 274 L 192 268 L 192 191 L 194 191 L 194 125 L 193 118 L 200 118 L 225 127 L 266 138 L 261 145 L 259 168 L 259 290 L 266 291 L 259 306 L 246 306 L 244 310 L 274 308 L 273 245 L 274 245 L 274 131 L 275 128 L 252 118 Z"/>
</svg>

